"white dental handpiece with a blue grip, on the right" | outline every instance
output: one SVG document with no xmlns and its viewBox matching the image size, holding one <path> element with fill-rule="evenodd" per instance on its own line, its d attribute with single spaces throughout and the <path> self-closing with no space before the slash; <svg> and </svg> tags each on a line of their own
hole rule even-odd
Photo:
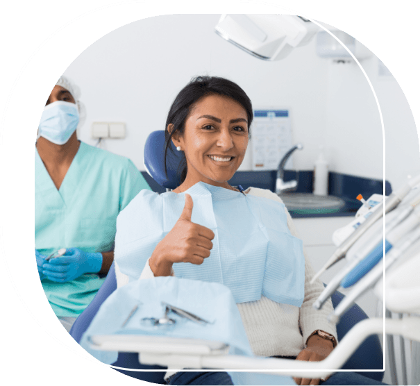
<svg viewBox="0 0 420 386">
<path fill-rule="evenodd" d="M 410 215 L 413 217 L 413 211 L 414 208 L 411 205 L 409 205 L 405 208 L 402 208 L 402 210 L 398 213 L 395 213 L 395 215 L 393 213 L 394 216 L 392 217 L 392 220 L 389 221 L 388 224 L 386 224 L 386 229 L 389 233 L 389 237 L 387 237 L 387 240 L 385 240 L 385 253 L 392 249 L 392 246 L 395 244 L 396 240 L 399 240 L 398 235 L 401 234 L 401 226 L 399 225 L 403 222 L 403 220 L 410 217 Z M 416 212 L 420 213 L 420 208 L 416 210 Z M 376 226 L 372 229 L 373 231 L 380 230 L 380 228 L 382 228 L 382 224 L 380 224 L 380 222 L 376 223 Z M 404 221 L 403 224 L 401 224 L 403 225 L 403 232 L 407 232 L 415 226 L 414 221 L 408 221 L 409 224 L 407 226 L 405 225 L 406 222 L 407 221 Z M 393 230 L 394 232 L 392 232 Z M 395 230 L 400 231 L 396 232 Z M 366 273 L 366 271 L 369 271 L 371 267 L 376 265 L 382 257 L 383 233 L 380 232 L 378 233 L 378 235 L 373 235 L 371 240 L 369 240 L 367 244 L 364 244 L 362 248 L 360 248 L 358 253 L 355 253 L 353 259 L 350 262 L 348 262 L 346 267 L 344 267 L 342 271 L 340 271 L 337 275 L 334 276 L 332 280 L 330 280 L 330 283 L 328 283 L 328 285 L 321 293 L 321 295 L 319 295 L 319 298 L 317 299 L 317 301 L 314 302 L 312 307 L 316 310 L 319 310 L 340 285 L 342 285 L 343 287 L 350 287 L 350 285 L 353 285 L 355 281 L 360 279 L 360 272 L 362 271 L 363 267 L 362 265 L 364 265 L 363 268 Z M 346 278 L 347 280 L 344 281 Z"/>
</svg>

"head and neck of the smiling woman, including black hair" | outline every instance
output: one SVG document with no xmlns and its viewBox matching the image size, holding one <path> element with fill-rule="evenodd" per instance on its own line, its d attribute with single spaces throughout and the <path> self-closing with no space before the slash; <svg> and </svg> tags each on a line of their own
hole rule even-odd
<svg viewBox="0 0 420 386">
<path fill-rule="evenodd" d="M 225 187 L 242 164 L 253 121 L 252 103 L 228 79 L 199 76 L 180 91 L 167 118 L 166 153 L 172 140 L 185 154 L 181 185 L 185 192 L 199 181 Z"/>
</svg>

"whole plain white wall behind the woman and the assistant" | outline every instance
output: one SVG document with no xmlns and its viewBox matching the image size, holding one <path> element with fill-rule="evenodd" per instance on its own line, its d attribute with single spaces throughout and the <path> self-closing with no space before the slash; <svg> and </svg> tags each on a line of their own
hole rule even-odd
<svg viewBox="0 0 420 386">
<path fill-rule="evenodd" d="M 142 19 L 101 37 L 67 68 L 82 89 L 87 120 L 79 132 L 90 138 L 92 121 L 124 121 L 124 140 L 104 149 L 128 156 L 140 170 L 144 142 L 162 130 L 171 102 L 199 74 L 224 76 L 249 94 L 255 107 L 289 108 L 294 140 L 305 149 L 294 166 L 312 169 L 325 146 L 330 170 L 381 178 L 382 133 L 376 102 L 355 64 L 337 65 L 315 54 L 316 41 L 286 60 L 264 62 L 214 33 L 219 15 L 164 15 Z M 401 185 L 420 172 L 419 144 L 410 106 L 392 76 L 378 76 L 378 59 L 362 63 L 383 106 L 387 130 L 387 179 Z M 388 140 L 389 137 L 389 140 Z M 240 170 L 251 169 L 248 154 Z"/>
</svg>

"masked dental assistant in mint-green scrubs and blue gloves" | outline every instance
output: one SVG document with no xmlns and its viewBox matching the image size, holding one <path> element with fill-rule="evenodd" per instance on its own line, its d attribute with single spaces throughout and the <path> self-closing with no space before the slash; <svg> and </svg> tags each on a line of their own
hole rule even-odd
<svg viewBox="0 0 420 386">
<path fill-rule="evenodd" d="M 128 158 L 77 139 L 83 105 L 61 76 L 40 119 L 35 146 L 35 258 L 45 295 L 69 330 L 114 259 L 117 215 L 150 187 Z M 65 255 L 46 261 L 50 253 Z"/>
</svg>

